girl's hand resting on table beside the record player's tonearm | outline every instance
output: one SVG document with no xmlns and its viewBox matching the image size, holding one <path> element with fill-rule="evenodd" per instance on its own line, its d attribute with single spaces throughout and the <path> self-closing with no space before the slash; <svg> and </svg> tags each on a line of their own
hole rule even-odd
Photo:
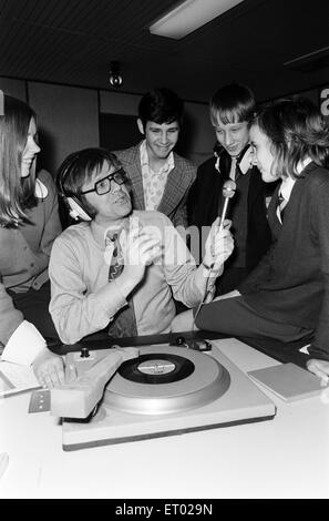
<svg viewBox="0 0 329 521">
<path fill-rule="evenodd" d="M 32 368 L 39 384 L 51 389 L 65 382 L 64 364 L 61 356 L 44 348 L 34 359 Z"/>
</svg>

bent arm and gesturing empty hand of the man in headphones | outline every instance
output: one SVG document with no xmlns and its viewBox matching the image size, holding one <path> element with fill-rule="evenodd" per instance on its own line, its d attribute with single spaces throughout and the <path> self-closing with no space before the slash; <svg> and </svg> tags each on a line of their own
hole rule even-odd
<svg viewBox="0 0 329 521">
<path fill-rule="evenodd" d="M 74 344 L 86 335 L 104 329 L 127 304 L 126 297 L 142 279 L 145 266 L 158 254 L 158 241 L 132 229 L 124 252 L 122 274 L 97 290 L 88 293 L 82 251 L 72 236 L 60 236 L 53 245 L 49 274 L 50 313 L 64 344 Z M 99 268 L 99 267 L 96 267 Z M 109 266 L 105 265 L 109 270 Z"/>
</svg>

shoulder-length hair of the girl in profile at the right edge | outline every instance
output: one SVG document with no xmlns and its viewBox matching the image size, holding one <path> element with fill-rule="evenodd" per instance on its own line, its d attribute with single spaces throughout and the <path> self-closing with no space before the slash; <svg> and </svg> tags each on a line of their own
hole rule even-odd
<svg viewBox="0 0 329 521">
<path fill-rule="evenodd" d="M 297 165 L 306 157 L 326 164 L 329 132 L 320 111 L 307 98 L 279 100 L 264 108 L 251 125 L 258 125 L 270 140 L 275 174 L 297 178 Z"/>
</svg>

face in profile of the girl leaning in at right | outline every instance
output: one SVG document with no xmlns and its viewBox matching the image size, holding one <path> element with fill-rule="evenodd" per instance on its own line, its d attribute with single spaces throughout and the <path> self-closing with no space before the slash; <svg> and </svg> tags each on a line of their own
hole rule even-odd
<svg viewBox="0 0 329 521">
<path fill-rule="evenodd" d="M 258 167 L 263 181 L 265 181 L 265 183 L 273 183 L 279 175 L 277 175 L 273 168 L 275 157 L 271 153 L 270 140 L 258 125 L 251 126 L 249 140 L 254 152 L 253 163 Z"/>
</svg>

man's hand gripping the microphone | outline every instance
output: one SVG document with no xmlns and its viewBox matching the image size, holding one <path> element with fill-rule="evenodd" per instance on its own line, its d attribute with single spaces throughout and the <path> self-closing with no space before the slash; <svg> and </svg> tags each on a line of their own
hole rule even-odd
<svg viewBox="0 0 329 521">
<path fill-rule="evenodd" d="M 223 228 L 219 228 L 219 217 L 214 221 L 209 235 L 205 244 L 204 264 L 214 266 L 218 270 L 234 249 L 234 239 L 229 232 L 232 222 L 224 221 Z"/>
</svg>

